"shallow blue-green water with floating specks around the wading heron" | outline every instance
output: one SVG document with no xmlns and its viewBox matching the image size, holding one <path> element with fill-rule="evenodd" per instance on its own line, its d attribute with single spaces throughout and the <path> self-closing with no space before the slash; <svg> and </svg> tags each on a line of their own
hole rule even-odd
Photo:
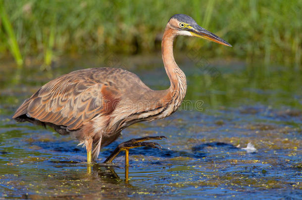
<svg viewBox="0 0 302 200">
<path fill-rule="evenodd" d="M 156 57 L 158 56 L 158 57 Z M 16 199 L 300 199 L 302 196 L 302 73 L 187 56 L 185 104 L 167 119 L 137 123 L 103 148 L 91 173 L 86 152 L 69 136 L 10 120 L 22 101 L 69 71 L 118 66 L 153 89 L 168 87 L 160 56 L 64 59 L 50 69 L 0 68 L 0 195 Z M 121 64 L 127 63 L 127 64 Z M 207 61 L 206 61 L 207 63 Z M 22 75 L 22 76 L 21 76 Z M 20 78 L 15 78 L 15 77 Z M 189 101 L 190 100 L 190 101 Z M 123 141 L 165 135 L 162 151 L 130 150 L 101 162 Z M 252 142 L 257 149 L 247 153 Z"/>
</svg>

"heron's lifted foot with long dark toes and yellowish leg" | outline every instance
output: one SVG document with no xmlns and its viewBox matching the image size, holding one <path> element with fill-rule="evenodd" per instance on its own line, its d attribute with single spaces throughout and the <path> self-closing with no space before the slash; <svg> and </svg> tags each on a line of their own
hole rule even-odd
<svg viewBox="0 0 302 200">
<path fill-rule="evenodd" d="M 129 166 L 129 149 L 136 147 L 151 147 L 161 150 L 160 144 L 156 142 L 144 142 L 146 140 L 161 140 L 166 138 L 166 136 L 148 136 L 143 138 L 131 139 L 126 142 L 123 142 L 117 146 L 117 148 L 112 152 L 112 154 L 104 161 L 104 163 L 110 163 L 115 157 L 121 152 L 125 151 L 125 166 Z"/>
</svg>

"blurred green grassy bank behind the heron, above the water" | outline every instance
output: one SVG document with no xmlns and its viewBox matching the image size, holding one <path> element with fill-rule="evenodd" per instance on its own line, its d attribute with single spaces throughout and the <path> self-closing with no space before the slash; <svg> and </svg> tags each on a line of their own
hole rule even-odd
<svg viewBox="0 0 302 200">
<path fill-rule="evenodd" d="M 192 16 L 233 45 L 179 37 L 176 50 L 301 69 L 302 0 L 0 0 L 0 59 L 49 65 L 67 54 L 160 51 L 169 18 Z"/>
</svg>

